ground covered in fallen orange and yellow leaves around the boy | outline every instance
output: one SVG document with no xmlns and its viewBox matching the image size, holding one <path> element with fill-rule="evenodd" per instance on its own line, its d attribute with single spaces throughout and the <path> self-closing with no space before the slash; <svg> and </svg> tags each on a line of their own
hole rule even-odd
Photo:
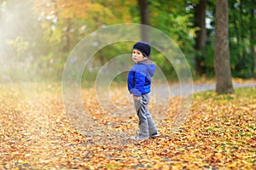
<svg viewBox="0 0 256 170">
<path fill-rule="evenodd" d="M 103 111 L 92 88 L 82 90 L 94 122 L 84 133 L 70 123 L 58 84 L 0 89 L 0 169 L 256 168 L 256 88 L 194 94 L 189 116 L 175 133 L 172 120 L 180 99 L 172 97 L 164 112 L 149 105 L 162 135 L 145 141 L 130 139 L 137 133 L 134 111 L 124 116 Z M 123 88 L 112 91 L 114 105 L 131 104 Z"/>
</svg>

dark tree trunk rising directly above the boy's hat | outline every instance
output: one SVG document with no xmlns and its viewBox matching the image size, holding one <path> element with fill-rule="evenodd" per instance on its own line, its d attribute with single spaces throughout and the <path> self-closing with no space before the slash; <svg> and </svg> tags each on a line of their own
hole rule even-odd
<svg viewBox="0 0 256 170">
<path fill-rule="evenodd" d="M 142 39 L 144 42 L 148 42 L 148 27 L 149 26 L 149 8 L 148 0 L 138 0 L 140 15 L 141 15 L 141 24 L 146 25 L 142 26 Z"/>
</svg>

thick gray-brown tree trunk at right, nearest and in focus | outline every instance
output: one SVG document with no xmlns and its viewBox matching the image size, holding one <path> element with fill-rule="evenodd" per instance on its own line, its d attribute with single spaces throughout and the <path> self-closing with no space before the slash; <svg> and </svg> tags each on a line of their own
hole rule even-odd
<svg viewBox="0 0 256 170">
<path fill-rule="evenodd" d="M 230 70 L 229 48 L 229 7 L 228 0 L 217 0 L 216 28 L 214 45 L 214 70 L 216 74 L 216 92 L 233 94 Z"/>
</svg>

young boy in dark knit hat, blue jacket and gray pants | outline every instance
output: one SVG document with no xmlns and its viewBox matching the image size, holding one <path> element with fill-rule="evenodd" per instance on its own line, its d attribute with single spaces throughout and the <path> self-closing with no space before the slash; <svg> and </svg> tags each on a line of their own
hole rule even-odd
<svg viewBox="0 0 256 170">
<path fill-rule="evenodd" d="M 139 118 L 139 133 L 131 139 L 149 139 L 160 136 L 148 111 L 151 78 L 154 76 L 155 65 L 148 59 L 151 47 L 147 42 L 137 42 L 133 46 L 132 60 L 135 65 L 129 71 L 127 84 L 133 94 L 134 105 Z"/>
</svg>

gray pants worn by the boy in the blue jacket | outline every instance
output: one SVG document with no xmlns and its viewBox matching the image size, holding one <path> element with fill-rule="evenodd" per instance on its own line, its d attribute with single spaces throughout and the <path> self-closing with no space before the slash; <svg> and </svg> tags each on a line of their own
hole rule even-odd
<svg viewBox="0 0 256 170">
<path fill-rule="evenodd" d="M 148 138 L 157 132 L 153 119 L 148 111 L 150 94 L 143 94 L 140 100 L 134 99 L 135 109 L 139 118 L 139 136 Z"/>
</svg>

